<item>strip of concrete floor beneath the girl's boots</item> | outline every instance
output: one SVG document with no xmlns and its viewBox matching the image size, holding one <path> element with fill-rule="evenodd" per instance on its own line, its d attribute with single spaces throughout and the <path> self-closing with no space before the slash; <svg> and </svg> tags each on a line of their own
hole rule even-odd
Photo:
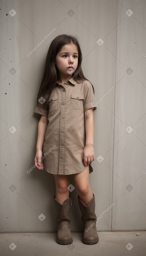
<svg viewBox="0 0 146 256">
<path fill-rule="evenodd" d="M 139 235 L 137 235 L 139 234 Z M 0 256 L 146 256 L 146 232 L 98 232 L 99 242 L 82 243 L 72 233 L 69 245 L 56 243 L 56 233 L 0 234 Z"/>
</svg>

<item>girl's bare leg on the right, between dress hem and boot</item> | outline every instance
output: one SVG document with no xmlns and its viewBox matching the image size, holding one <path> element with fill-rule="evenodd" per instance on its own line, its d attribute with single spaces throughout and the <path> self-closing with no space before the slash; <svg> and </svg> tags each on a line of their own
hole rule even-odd
<svg viewBox="0 0 146 256">
<path fill-rule="evenodd" d="M 89 165 L 83 172 L 75 173 L 74 180 L 79 199 L 87 206 L 93 198 L 89 183 Z"/>
</svg>

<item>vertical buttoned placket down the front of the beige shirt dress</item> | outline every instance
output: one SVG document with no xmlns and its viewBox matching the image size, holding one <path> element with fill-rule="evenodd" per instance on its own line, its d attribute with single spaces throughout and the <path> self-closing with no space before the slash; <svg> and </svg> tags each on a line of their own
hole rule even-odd
<svg viewBox="0 0 146 256">
<path fill-rule="evenodd" d="M 64 122 L 65 122 L 65 102 L 66 90 L 61 89 L 61 102 L 60 104 L 60 152 L 59 152 L 59 171 L 58 174 L 64 174 Z"/>
</svg>

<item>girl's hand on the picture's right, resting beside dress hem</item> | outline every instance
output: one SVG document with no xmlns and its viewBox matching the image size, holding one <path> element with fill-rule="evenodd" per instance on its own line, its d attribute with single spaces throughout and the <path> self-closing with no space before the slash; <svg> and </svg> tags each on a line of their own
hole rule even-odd
<svg viewBox="0 0 146 256">
<path fill-rule="evenodd" d="M 87 166 L 92 163 L 95 159 L 94 157 L 94 149 L 93 146 L 85 146 L 82 152 L 82 159 L 84 161 L 84 165 Z"/>
</svg>

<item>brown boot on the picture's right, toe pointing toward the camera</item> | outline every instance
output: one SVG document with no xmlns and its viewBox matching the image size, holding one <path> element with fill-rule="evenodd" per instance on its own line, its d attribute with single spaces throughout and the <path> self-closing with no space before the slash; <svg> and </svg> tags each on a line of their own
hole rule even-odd
<svg viewBox="0 0 146 256">
<path fill-rule="evenodd" d="M 84 226 L 83 243 L 95 244 L 98 243 L 98 233 L 96 229 L 97 217 L 95 214 L 95 197 L 91 199 L 88 206 L 86 206 L 78 196 L 79 208 L 82 213 L 82 221 Z"/>
</svg>

